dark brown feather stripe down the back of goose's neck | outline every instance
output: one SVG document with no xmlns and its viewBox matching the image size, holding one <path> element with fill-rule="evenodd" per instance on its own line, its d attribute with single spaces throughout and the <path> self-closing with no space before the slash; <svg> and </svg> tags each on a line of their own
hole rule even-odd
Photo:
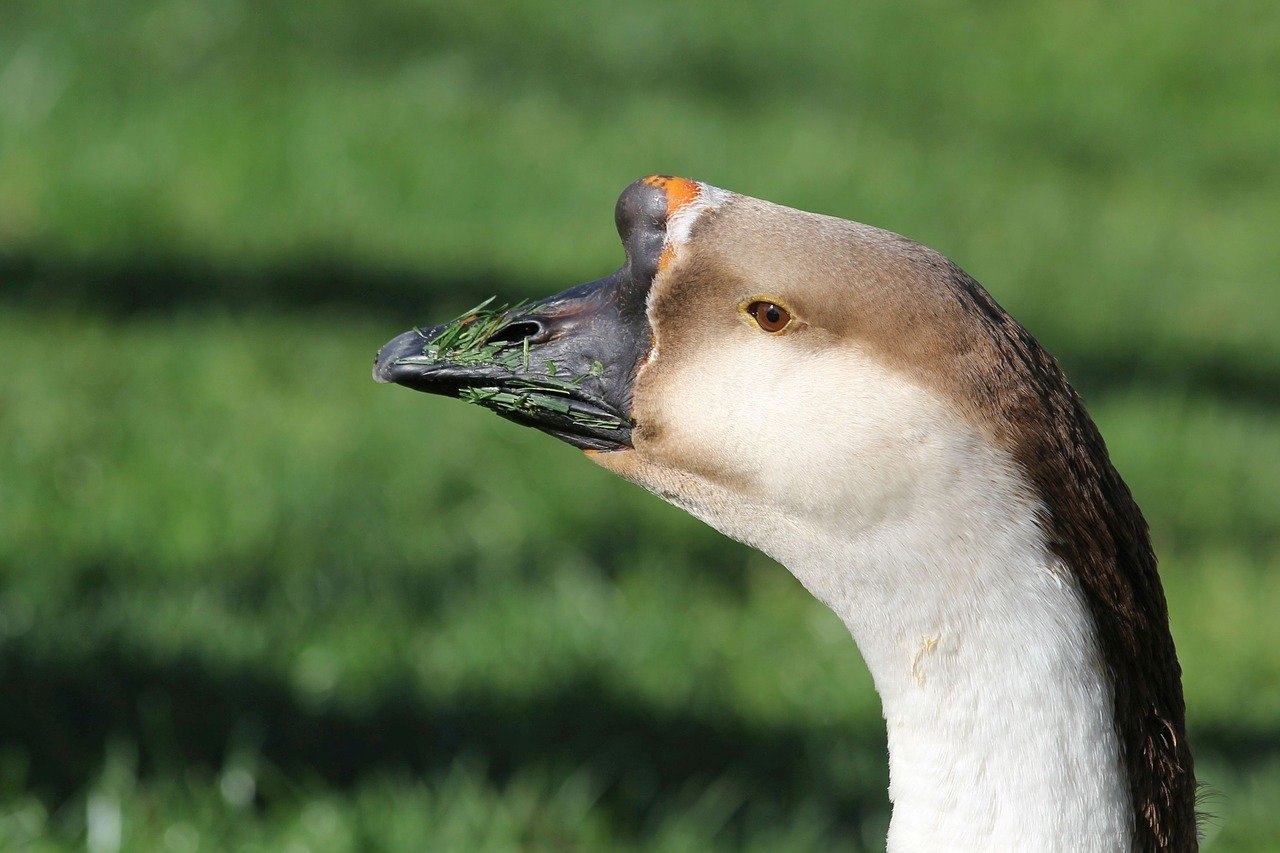
<svg viewBox="0 0 1280 853">
<path fill-rule="evenodd" d="M 1076 573 L 1111 671 L 1115 724 L 1139 850 L 1194 850 L 1196 775 L 1181 667 L 1142 511 L 1057 362 L 964 270 L 948 279 L 989 330 L 982 397 L 997 439 L 1044 503 L 1050 547 Z"/>
</svg>

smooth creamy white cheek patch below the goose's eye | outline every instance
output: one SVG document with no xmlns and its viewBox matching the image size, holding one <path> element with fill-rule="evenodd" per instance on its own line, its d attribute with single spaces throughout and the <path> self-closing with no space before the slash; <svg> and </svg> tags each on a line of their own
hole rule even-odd
<svg viewBox="0 0 1280 853">
<path fill-rule="evenodd" d="M 678 414 L 663 418 L 664 441 L 810 519 L 861 526 L 893 514 L 952 432 L 940 430 L 936 398 L 854 347 L 814 355 L 786 337 L 733 336 L 662 384 L 659 411 Z"/>
</svg>

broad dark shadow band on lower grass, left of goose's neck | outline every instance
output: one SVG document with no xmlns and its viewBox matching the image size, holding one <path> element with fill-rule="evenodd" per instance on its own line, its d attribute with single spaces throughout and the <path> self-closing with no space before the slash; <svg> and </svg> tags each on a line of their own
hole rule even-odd
<svg viewBox="0 0 1280 853">
<path fill-rule="evenodd" d="M 109 742 L 124 740 L 138 745 L 143 776 L 218 772 L 229 752 L 248 747 L 287 780 L 335 788 L 378 774 L 439 777 L 460 757 L 485 758 L 497 785 L 521 768 L 588 767 L 604 788 L 599 808 L 632 839 L 673 793 L 713 780 L 741 792 L 740 812 L 756 824 L 786 821 L 803 807 L 826 813 L 841 833 L 860 833 L 887 808 L 879 731 L 657 711 L 591 675 L 529 698 L 475 694 L 439 704 L 389 684 L 362 710 L 335 710 L 261 674 L 195 658 L 146 661 L 108 646 L 50 661 L 10 642 L 0 648 L 0 751 L 27 760 L 20 784 L 52 806 L 82 793 Z"/>
</svg>

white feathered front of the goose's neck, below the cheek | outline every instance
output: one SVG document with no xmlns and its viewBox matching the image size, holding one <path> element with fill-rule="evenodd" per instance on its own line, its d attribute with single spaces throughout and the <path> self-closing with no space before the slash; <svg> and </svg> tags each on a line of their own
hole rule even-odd
<svg viewBox="0 0 1280 853">
<path fill-rule="evenodd" d="M 972 473 L 973 489 L 787 564 L 879 692 L 888 848 L 1124 849 L 1132 807 L 1092 620 L 1029 514 L 1005 515 L 982 492 L 992 473 Z"/>
</svg>

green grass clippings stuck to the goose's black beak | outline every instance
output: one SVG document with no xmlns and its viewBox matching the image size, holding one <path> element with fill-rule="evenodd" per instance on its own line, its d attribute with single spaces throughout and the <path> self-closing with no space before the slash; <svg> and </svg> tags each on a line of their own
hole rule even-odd
<svg viewBox="0 0 1280 853">
<path fill-rule="evenodd" d="M 529 313 L 524 302 L 490 307 L 494 297 L 489 297 L 470 311 L 444 325 L 439 334 L 428 338 L 421 329 L 415 329 L 426 343 L 422 355 L 401 359 L 401 364 L 454 364 L 460 366 L 502 366 L 512 374 L 512 379 L 498 386 L 474 386 L 462 388 L 458 400 L 475 403 L 499 415 L 527 415 L 554 412 L 588 429 L 623 429 L 627 421 L 612 415 L 586 412 L 570 405 L 582 382 L 590 377 L 602 377 L 604 365 L 593 361 L 591 368 L 577 377 L 561 375 L 554 361 L 544 360 L 545 373 L 529 371 L 529 338 L 518 343 L 493 341 L 493 336 L 504 325 L 520 320 Z"/>
</svg>

